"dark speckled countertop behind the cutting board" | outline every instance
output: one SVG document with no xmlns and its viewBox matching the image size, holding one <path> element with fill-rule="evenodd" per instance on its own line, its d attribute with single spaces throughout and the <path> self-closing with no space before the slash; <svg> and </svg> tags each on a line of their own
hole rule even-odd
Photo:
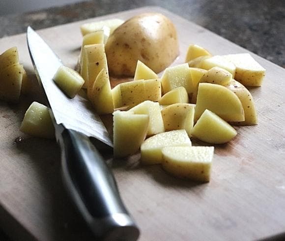
<svg viewBox="0 0 285 241">
<path fill-rule="evenodd" d="M 85 1 L 36 12 L 0 16 L 0 37 L 147 5 L 164 7 L 285 67 L 283 0 L 114 0 Z M 282 236 L 284 237 L 284 236 Z M 0 240 L 8 240 L 0 231 Z"/>
</svg>

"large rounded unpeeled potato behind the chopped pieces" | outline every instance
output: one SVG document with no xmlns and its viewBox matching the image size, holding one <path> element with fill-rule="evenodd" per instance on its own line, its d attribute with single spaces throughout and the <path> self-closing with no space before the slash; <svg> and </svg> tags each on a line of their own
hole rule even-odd
<svg viewBox="0 0 285 241">
<path fill-rule="evenodd" d="M 105 50 L 109 71 L 115 76 L 134 76 L 138 60 L 159 73 L 179 54 L 176 29 L 160 13 L 144 13 L 127 20 L 114 30 Z"/>
</svg>

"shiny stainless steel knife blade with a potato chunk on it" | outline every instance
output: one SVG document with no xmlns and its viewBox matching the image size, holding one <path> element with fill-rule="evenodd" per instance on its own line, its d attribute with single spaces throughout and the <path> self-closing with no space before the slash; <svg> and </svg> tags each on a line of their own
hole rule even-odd
<svg viewBox="0 0 285 241">
<path fill-rule="evenodd" d="M 45 90 L 57 124 L 79 131 L 113 147 L 110 135 L 100 117 L 90 110 L 90 104 L 81 95 L 68 98 L 55 84 L 53 76 L 62 65 L 47 43 L 30 27 L 27 30 L 28 49 L 38 80 Z M 89 107 L 89 108 L 88 108 Z"/>
</svg>

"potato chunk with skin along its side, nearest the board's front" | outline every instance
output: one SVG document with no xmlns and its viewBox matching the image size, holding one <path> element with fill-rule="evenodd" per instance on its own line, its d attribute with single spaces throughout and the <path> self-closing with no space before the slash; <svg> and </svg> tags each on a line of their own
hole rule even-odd
<svg viewBox="0 0 285 241">
<path fill-rule="evenodd" d="M 193 181 L 210 181 L 214 147 L 165 147 L 162 167 L 171 175 Z"/>
</svg>

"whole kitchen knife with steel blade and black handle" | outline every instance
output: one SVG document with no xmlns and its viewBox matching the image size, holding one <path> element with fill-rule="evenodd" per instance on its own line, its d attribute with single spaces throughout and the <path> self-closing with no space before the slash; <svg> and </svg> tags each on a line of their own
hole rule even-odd
<svg viewBox="0 0 285 241">
<path fill-rule="evenodd" d="M 28 51 L 47 96 L 61 149 L 62 178 L 88 226 L 100 240 L 133 241 L 139 229 L 126 210 L 114 176 L 89 137 L 113 147 L 100 117 L 87 109 L 87 100 L 68 98 L 53 81 L 61 60 L 31 27 L 27 29 Z"/>
</svg>

